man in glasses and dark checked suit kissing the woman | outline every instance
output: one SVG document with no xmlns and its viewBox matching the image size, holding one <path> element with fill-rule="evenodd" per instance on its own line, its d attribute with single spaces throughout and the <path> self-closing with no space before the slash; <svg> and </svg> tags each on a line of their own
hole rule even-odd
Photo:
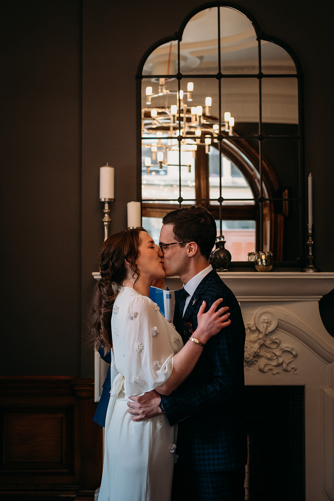
<svg viewBox="0 0 334 501">
<path fill-rule="evenodd" d="M 184 207 L 163 218 L 160 248 L 166 276 L 184 283 L 175 298 L 174 325 L 184 344 L 197 328 L 197 313 L 218 298 L 231 324 L 208 341 L 190 376 L 169 396 L 155 390 L 130 397 L 134 421 L 165 412 L 178 423 L 173 501 L 242 501 L 246 435 L 243 409 L 245 329 L 239 304 L 209 265 L 216 224 L 204 207 Z M 161 486 L 163 488 L 163 486 Z"/>
</svg>

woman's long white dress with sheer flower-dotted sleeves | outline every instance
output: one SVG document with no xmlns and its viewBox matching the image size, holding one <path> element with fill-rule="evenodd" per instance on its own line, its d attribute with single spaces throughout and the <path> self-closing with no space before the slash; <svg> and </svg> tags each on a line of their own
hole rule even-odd
<svg viewBox="0 0 334 501">
<path fill-rule="evenodd" d="M 99 501 L 170 501 L 177 426 L 165 414 L 134 422 L 127 402 L 169 378 L 182 339 L 156 303 L 129 287 L 116 298 L 111 328 L 114 380 Z"/>
</svg>

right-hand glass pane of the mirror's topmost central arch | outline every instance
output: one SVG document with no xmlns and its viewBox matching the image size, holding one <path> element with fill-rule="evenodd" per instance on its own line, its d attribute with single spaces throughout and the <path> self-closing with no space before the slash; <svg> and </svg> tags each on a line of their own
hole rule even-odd
<svg viewBox="0 0 334 501">
<path fill-rule="evenodd" d="M 258 73 L 255 30 L 240 12 L 220 7 L 220 60 L 223 74 Z"/>
</svg>

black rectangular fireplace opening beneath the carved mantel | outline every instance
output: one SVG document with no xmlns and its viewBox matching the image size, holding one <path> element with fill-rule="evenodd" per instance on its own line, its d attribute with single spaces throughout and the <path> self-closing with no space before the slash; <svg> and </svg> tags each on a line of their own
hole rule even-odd
<svg viewBox="0 0 334 501">
<path fill-rule="evenodd" d="M 246 386 L 245 499 L 304 501 L 304 387 Z"/>
</svg>

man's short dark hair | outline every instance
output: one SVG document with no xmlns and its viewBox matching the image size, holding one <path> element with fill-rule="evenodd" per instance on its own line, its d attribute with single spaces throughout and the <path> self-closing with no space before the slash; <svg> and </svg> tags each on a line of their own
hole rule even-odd
<svg viewBox="0 0 334 501">
<path fill-rule="evenodd" d="M 196 242 L 199 252 L 209 259 L 216 241 L 217 228 L 213 215 L 205 207 L 191 205 L 167 212 L 163 224 L 172 224 L 175 238 L 180 242 Z M 180 244 L 184 247 L 184 243 Z"/>
</svg>

